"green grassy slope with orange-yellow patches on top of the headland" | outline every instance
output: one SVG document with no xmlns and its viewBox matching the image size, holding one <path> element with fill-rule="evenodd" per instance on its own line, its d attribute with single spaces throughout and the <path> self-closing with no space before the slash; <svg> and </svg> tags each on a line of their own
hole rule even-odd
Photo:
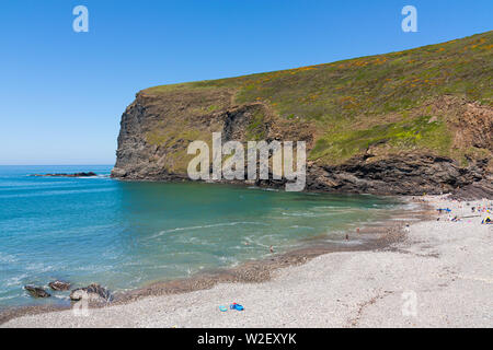
<svg viewBox="0 0 493 350">
<path fill-rule="evenodd" d="M 492 77 L 493 32 L 486 32 L 387 55 L 145 92 L 232 90 L 238 104 L 261 101 L 280 118 L 313 122 L 318 131 L 309 158 L 341 163 L 379 143 L 389 151 L 423 149 L 461 158 L 450 149 L 452 133 L 444 116 L 410 110 L 443 95 L 492 107 Z M 254 135 L 254 129 L 249 131 Z"/>
</svg>

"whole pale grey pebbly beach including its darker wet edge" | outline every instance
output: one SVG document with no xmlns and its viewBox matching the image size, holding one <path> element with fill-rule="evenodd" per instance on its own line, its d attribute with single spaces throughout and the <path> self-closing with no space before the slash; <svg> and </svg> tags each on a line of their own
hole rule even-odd
<svg viewBox="0 0 493 350">
<path fill-rule="evenodd" d="M 427 202 L 452 212 L 460 206 L 437 197 Z M 359 235 L 378 238 L 347 245 L 346 252 L 312 246 L 229 271 L 156 283 L 118 295 L 115 305 L 90 308 L 89 316 L 44 312 L 2 327 L 493 326 L 492 228 L 477 218 L 456 223 L 435 217 L 362 230 Z M 414 223 L 403 232 L 399 228 L 405 222 Z M 415 307 L 408 307 L 413 300 Z M 218 310 L 232 302 L 245 311 Z"/>
</svg>

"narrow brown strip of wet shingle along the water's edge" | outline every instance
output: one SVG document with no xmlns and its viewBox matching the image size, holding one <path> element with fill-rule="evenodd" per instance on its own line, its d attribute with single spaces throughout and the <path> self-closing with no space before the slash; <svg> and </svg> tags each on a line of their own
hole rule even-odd
<svg viewBox="0 0 493 350">
<path fill-rule="evenodd" d="M 311 242 L 305 247 L 274 254 L 273 256 L 261 259 L 244 261 L 237 267 L 204 271 L 186 278 L 149 282 L 138 289 L 116 292 L 113 295 L 114 301 L 111 303 L 92 303 L 90 304 L 90 307 L 111 307 L 115 305 L 125 305 L 146 298 L 191 293 L 208 290 L 220 283 L 262 283 L 270 281 L 272 275 L 278 269 L 303 265 L 324 254 L 388 248 L 390 244 L 404 240 L 402 229 L 406 219 L 410 219 L 411 221 L 425 220 L 429 210 L 426 203 L 413 200 L 412 198 L 414 197 L 412 196 L 398 196 L 398 198 L 402 199 L 404 205 L 416 203 L 417 206 L 405 214 L 391 215 L 376 224 L 369 222 L 369 225 L 363 228 L 359 234 L 352 233 L 353 238 L 364 237 L 365 242 L 355 245 L 341 243 L 329 244 L 320 242 L 320 238 L 312 238 L 309 240 Z M 70 303 L 70 305 L 50 304 L 5 307 L 0 311 L 0 326 L 19 317 L 62 312 L 71 310 L 71 307 L 72 303 Z"/>
</svg>

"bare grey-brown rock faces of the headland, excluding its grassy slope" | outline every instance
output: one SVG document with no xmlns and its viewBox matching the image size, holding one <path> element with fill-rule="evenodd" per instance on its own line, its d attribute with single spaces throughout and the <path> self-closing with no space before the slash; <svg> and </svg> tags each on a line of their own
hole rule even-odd
<svg viewBox="0 0 493 350">
<path fill-rule="evenodd" d="M 185 150 L 190 142 L 197 139 L 210 141 L 211 132 L 222 132 L 223 142 L 245 142 L 252 120 L 259 113 L 264 118 L 262 124 L 255 125 L 255 132 L 264 136 L 267 141 L 305 140 L 309 150 L 313 147 L 314 130 L 310 124 L 290 129 L 276 120 L 274 115 L 270 115 L 268 107 L 262 103 L 230 105 L 219 113 L 192 115 L 188 120 L 182 121 L 167 116 L 161 106 L 160 97 L 140 93 L 123 114 L 114 177 L 187 179 L 186 164 L 191 156 Z M 467 145 L 482 142 L 491 151 L 492 110 L 472 104 L 466 106 L 462 116 L 469 121 L 462 120 L 462 128 L 458 128 L 458 142 L 466 142 Z M 164 138 L 164 142 L 152 143 L 156 124 L 168 118 L 172 119 L 168 120 L 172 127 L 162 126 L 162 133 L 158 135 Z M 492 182 L 492 163 L 489 156 L 470 159 L 467 165 L 461 165 L 433 152 L 382 155 L 379 154 L 379 147 L 369 148 L 364 154 L 353 156 L 343 164 L 309 161 L 307 165 L 307 189 L 310 190 L 421 195 L 452 191 L 471 184 L 482 184 L 480 187 L 488 188 L 488 184 Z M 279 186 L 283 183 L 262 180 L 257 184 Z"/>
</svg>

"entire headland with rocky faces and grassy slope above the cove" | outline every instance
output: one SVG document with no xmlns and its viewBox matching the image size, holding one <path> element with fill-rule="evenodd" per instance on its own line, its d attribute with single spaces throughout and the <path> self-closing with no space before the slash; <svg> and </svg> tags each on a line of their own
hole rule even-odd
<svg viewBox="0 0 493 350">
<path fill-rule="evenodd" d="M 306 141 L 307 189 L 493 195 L 493 32 L 387 55 L 140 91 L 125 179 L 186 179 L 190 142 Z M 260 185 L 275 185 L 259 182 Z M 278 185 L 278 184 L 277 184 Z"/>
</svg>

